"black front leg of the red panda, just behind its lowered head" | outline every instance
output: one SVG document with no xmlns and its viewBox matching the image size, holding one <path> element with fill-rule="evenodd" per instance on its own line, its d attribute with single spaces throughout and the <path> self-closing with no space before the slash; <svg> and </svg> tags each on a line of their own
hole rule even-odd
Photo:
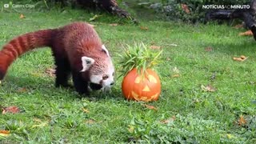
<svg viewBox="0 0 256 144">
<path fill-rule="evenodd" d="M 78 92 L 78 94 L 86 94 L 89 95 L 90 92 L 88 90 L 88 82 L 86 82 L 82 78 L 82 74 L 80 72 L 73 71 L 72 78 L 74 82 L 74 88 Z"/>
</svg>

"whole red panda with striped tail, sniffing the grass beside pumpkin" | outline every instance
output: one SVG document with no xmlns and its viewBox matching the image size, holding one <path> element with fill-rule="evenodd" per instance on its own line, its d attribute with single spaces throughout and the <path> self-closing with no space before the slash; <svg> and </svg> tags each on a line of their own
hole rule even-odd
<svg viewBox="0 0 256 144">
<path fill-rule="evenodd" d="M 96 30 L 86 22 L 57 29 L 38 30 L 12 39 L 0 51 L 0 80 L 10 64 L 34 48 L 49 46 L 56 67 L 55 86 L 69 86 L 72 75 L 78 94 L 109 90 L 114 84 L 114 65 Z"/>
</svg>

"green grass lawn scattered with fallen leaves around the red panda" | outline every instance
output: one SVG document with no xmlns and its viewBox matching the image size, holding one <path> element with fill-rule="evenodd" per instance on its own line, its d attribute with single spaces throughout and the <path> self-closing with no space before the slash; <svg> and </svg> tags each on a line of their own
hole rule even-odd
<svg viewBox="0 0 256 144">
<path fill-rule="evenodd" d="M 19 12 L 26 18 L 19 18 Z M 0 12 L 0 46 L 19 34 L 88 21 L 94 14 L 98 13 L 69 9 Z M 91 23 L 110 50 L 116 70 L 126 44 L 162 46 L 165 62 L 155 67 L 162 81 L 159 100 L 126 101 L 122 78 L 112 93 L 95 92 L 85 98 L 74 90 L 55 88 L 54 77 L 46 72 L 54 67 L 50 49 L 34 50 L 10 66 L 0 85 L 0 106 L 22 110 L 0 114 L 0 130 L 10 130 L 8 137 L 0 135 L 0 143 L 256 142 L 256 42 L 238 36 L 244 29 L 158 20 L 135 26 L 102 15 Z M 118 26 L 110 26 L 116 22 Z M 233 60 L 240 55 L 248 58 Z"/>
</svg>

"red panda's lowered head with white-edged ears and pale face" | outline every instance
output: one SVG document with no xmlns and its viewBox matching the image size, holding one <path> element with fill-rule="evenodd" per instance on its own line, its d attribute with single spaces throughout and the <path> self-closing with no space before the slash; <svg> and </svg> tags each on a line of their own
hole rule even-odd
<svg viewBox="0 0 256 144">
<path fill-rule="evenodd" d="M 81 72 L 84 72 L 82 76 L 89 80 L 89 89 L 110 90 L 110 87 L 114 85 L 114 65 L 104 45 L 98 52 L 101 54 L 95 54 L 92 58 L 86 56 L 81 58 Z"/>
</svg>

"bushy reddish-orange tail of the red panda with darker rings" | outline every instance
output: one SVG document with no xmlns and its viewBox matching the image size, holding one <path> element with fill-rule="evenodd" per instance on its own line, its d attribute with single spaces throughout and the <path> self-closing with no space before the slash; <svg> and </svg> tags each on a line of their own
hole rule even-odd
<svg viewBox="0 0 256 144">
<path fill-rule="evenodd" d="M 54 30 L 39 30 L 20 35 L 8 42 L 0 51 L 0 80 L 16 58 L 34 48 L 51 46 L 53 38 Z"/>
</svg>

